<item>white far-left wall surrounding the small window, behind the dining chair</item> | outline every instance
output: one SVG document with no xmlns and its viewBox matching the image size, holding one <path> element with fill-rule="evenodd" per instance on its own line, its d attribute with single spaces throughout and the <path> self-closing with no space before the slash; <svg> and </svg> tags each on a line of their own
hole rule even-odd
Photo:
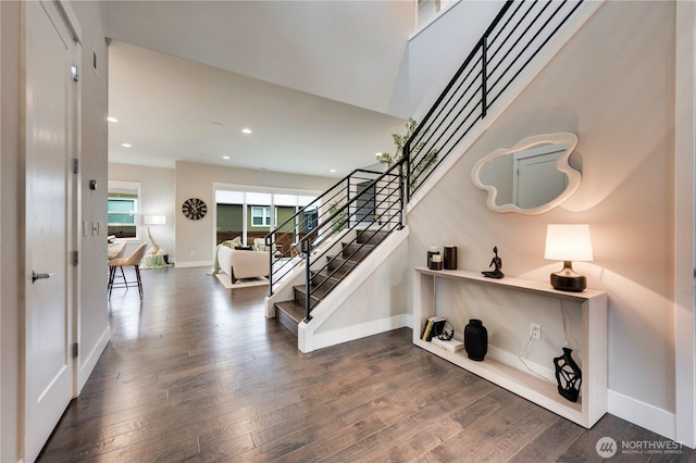
<svg viewBox="0 0 696 463">
<path fill-rule="evenodd" d="M 170 262 L 176 261 L 176 184 L 173 168 L 145 167 L 140 165 L 109 163 L 109 179 L 140 183 L 140 214 L 164 215 L 164 225 L 150 225 L 152 237 L 160 247 L 170 254 Z M 140 240 L 128 243 L 126 255 L 140 242 L 150 242 L 147 225 L 140 222 Z M 149 246 L 148 246 L 149 248 Z"/>
</svg>

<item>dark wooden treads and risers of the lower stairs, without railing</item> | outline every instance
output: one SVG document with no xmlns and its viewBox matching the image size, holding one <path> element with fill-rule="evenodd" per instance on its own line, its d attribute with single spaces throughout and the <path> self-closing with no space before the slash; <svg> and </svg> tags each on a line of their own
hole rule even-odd
<svg viewBox="0 0 696 463">
<path fill-rule="evenodd" d="M 341 241 L 341 252 L 328 256 L 325 268 L 311 273 L 310 312 L 387 236 L 387 232 L 364 229 L 357 234 L 355 241 Z M 304 320 L 307 313 L 304 308 L 308 297 L 307 286 L 296 285 L 293 287 L 293 292 L 295 299 L 276 302 L 275 309 L 278 322 L 297 336 L 297 327 Z"/>
</svg>

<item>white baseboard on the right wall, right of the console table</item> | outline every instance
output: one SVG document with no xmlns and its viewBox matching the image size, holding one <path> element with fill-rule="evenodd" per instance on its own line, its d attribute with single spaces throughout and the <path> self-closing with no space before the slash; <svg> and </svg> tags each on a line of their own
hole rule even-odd
<svg viewBox="0 0 696 463">
<path fill-rule="evenodd" d="M 674 413 L 612 390 L 607 391 L 608 412 L 668 439 L 676 435 Z M 611 436 L 609 436 L 611 437 Z"/>
</svg>

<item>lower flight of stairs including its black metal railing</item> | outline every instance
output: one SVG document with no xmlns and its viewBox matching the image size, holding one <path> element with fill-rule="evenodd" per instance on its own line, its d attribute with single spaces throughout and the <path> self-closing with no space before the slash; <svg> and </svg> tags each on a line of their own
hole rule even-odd
<svg viewBox="0 0 696 463">
<path fill-rule="evenodd" d="M 293 240 L 279 259 L 271 251 L 266 311 L 290 331 L 312 320 L 311 312 L 358 265 L 402 225 L 401 164 L 386 172 L 356 170 L 313 203 L 266 235 L 265 243 Z M 311 209 L 313 214 L 307 213 Z M 312 221 L 306 217 L 314 217 Z M 282 247 L 286 249 L 285 246 Z M 301 284 L 299 279 L 301 278 Z M 288 285 L 293 285 L 291 291 Z"/>
</svg>

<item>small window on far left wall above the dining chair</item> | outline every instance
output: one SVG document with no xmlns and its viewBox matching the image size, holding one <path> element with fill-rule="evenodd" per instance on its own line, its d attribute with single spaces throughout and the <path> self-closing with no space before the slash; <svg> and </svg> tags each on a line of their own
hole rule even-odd
<svg viewBox="0 0 696 463">
<path fill-rule="evenodd" d="M 139 239 L 140 184 L 109 182 L 108 195 L 109 235 L 116 238 Z"/>
</svg>

